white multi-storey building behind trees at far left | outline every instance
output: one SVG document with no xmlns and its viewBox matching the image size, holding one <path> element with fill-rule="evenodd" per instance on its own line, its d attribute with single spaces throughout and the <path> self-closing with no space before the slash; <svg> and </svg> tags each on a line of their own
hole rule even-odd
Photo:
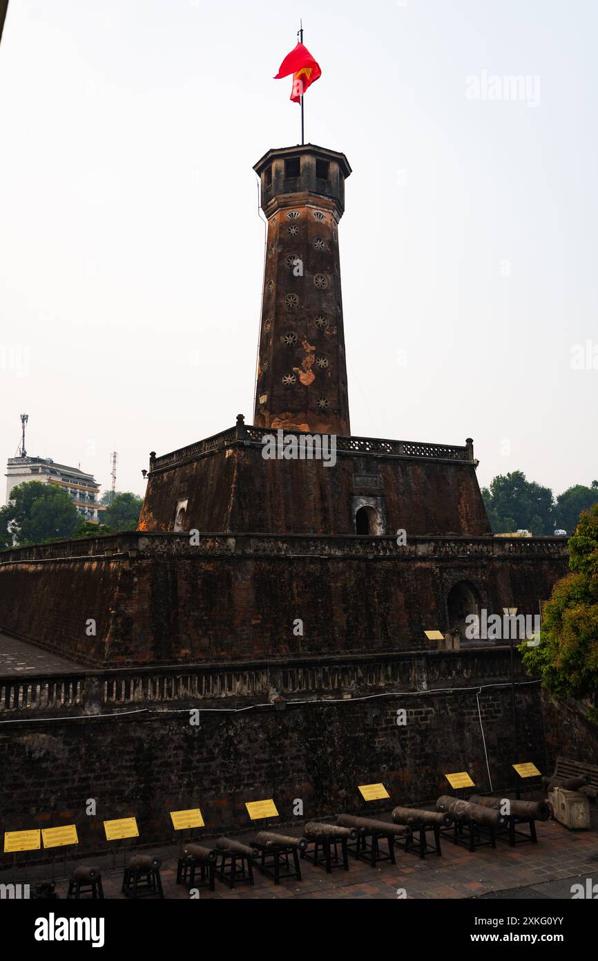
<svg viewBox="0 0 598 961">
<path fill-rule="evenodd" d="M 62 487 L 86 521 L 97 524 L 99 512 L 106 510 L 104 505 L 98 503 L 100 484 L 93 474 L 85 474 L 78 467 L 57 464 L 50 457 L 9 457 L 6 477 L 7 504 L 16 484 L 38 480 L 40 483 L 56 483 Z"/>
</svg>

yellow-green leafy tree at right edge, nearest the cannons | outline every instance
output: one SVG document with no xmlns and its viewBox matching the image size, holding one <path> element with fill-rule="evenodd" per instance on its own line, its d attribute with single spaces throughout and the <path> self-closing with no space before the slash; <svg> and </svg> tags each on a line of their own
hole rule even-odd
<svg viewBox="0 0 598 961">
<path fill-rule="evenodd" d="M 598 721 L 598 504 L 569 540 L 569 569 L 544 605 L 538 646 L 519 650 L 553 697 L 593 701 L 587 713 Z"/>
</svg>

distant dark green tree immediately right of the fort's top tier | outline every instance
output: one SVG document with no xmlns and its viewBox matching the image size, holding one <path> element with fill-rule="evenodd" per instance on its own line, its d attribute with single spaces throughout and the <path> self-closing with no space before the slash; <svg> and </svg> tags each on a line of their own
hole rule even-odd
<svg viewBox="0 0 598 961">
<path fill-rule="evenodd" d="M 522 471 L 498 475 L 482 497 L 493 533 L 529 530 L 539 536 L 554 530 L 553 493 L 535 480 L 527 480 Z"/>
</svg>

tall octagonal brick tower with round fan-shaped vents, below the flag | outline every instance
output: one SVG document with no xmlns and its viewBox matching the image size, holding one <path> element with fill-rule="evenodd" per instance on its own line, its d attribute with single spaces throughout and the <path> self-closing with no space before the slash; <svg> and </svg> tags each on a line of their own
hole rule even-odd
<svg viewBox="0 0 598 961">
<path fill-rule="evenodd" d="M 253 169 L 268 218 L 253 423 L 348 436 L 338 224 L 351 168 L 307 143 Z"/>
</svg>

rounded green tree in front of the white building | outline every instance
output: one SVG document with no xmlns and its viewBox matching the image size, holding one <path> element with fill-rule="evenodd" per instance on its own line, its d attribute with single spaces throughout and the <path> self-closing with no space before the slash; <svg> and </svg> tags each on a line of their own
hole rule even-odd
<svg viewBox="0 0 598 961">
<path fill-rule="evenodd" d="M 12 488 L 3 523 L 17 545 L 71 537 L 80 520 L 77 507 L 58 484 L 29 480 Z"/>
</svg>

